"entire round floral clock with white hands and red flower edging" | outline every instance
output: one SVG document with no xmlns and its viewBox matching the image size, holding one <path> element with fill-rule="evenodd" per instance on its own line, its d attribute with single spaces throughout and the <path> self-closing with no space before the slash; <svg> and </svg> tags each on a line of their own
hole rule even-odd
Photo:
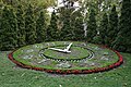
<svg viewBox="0 0 131 87">
<path fill-rule="evenodd" d="M 95 73 L 122 63 L 117 51 L 80 41 L 52 41 L 26 46 L 9 54 L 22 67 L 48 73 Z"/>
</svg>

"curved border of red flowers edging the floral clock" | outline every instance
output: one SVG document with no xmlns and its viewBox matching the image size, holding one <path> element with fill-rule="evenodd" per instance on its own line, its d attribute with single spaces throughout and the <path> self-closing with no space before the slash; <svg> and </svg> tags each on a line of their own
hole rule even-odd
<svg viewBox="0 0 131 87">
<path fill-rule="evenodd" d="M 107 47 L 104 46 L 103 48 L 107 48 Z M 112 50 L 112 49 L 110 49 L 110 50 Z M 48 69 L 43 69 L 43 67 L 35 67 L 35 66 L 31 66 L 31 65 L 25 65 L 25 64 L 16 61 L 13 58 L 13 52 L 14 51 L 9 53 L 8 58 L 13 63 L 15 63 L 16 65 L 22 66 L 24 69 L 29 69 L 29 70 L 45 71 L 47 73 L 55 73 L 55 74 L 91 74 L 91 73 L 98 73 L 98 72 L 109 71 L 109 70 L 112 70 L 112 69 L 116 69 L 116 67 L 120 66 L 123 63 L 122 55 L 116 50 L 112 50 L 112 51 L 116 52 L 117 55 L 119 57 L 119 60 L 116 63 L 110 64 L 110 65 L 105 66 L 105 67 L 97 67 L 97 69 L 93 69 L 93 70 L 48 70 Z"/>
</svg>

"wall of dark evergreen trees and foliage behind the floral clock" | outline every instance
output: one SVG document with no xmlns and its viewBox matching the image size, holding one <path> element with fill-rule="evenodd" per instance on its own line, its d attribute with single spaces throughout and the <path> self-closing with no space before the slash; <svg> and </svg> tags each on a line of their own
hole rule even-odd
<svg viewBox="0 0 131 87">
<path fill-rule="evenodd" d="M 80 7 L 74 5 L 76 1 Z M 63 7 L 57 4 L 56 0 L 0 0 L 0 50 L 43 41 L 81 40 L 131 52 L 130 0 L 66 0 Z M 5 7 L 12 16 L 3 16 Z M 51 15 L 49 7 L 55 8 Z M 5 35 L 9 27 L 11 36 Z"/>
</svg>

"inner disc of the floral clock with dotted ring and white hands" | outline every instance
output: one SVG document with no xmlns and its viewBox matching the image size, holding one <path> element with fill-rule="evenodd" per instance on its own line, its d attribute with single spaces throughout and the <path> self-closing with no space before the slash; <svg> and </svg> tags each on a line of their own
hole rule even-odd
<svg viewBox="0 0 131 87">
<path fill-rule="evenodd" d="M 86 48 L 86 44 L 75 45 L 73 42 L 61 42 L 60 45 L 45 47 L 40 50 L 40 55 L 44 59 L 50 59 L 53 61 L 60 62 L 75 62 L 75 61 L 84 61 L 86 59 L 91 59 L 93 57 L 93 51 Z"/>
</svg>

